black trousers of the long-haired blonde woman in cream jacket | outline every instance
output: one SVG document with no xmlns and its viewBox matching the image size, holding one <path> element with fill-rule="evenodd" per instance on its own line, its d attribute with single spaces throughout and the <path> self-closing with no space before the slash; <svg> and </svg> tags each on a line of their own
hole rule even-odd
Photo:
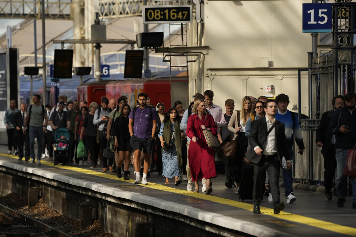
<svg viewBox="0 0 356 237">
<path fill-rule="evenodd" d="M 239 133 L 236 139 L 236 157 L 235 162 L 232 163 L 232 167 L 234 167 L 234 181 L 240 183 L 242 161 L 247 152 L 248 137 L 245 136 L 245 133 Z"/>
</svg>

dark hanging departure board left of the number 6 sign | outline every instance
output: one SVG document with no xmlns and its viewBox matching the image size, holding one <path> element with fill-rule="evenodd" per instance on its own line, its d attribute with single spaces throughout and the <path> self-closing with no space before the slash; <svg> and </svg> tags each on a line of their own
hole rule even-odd
<svg viewBox="0 0 356 237">
<path fill-rule="evenodd" d="M 72 49 L 54 49 L 53 78 L 72 78 L 72 66 Z"/>
</svg>

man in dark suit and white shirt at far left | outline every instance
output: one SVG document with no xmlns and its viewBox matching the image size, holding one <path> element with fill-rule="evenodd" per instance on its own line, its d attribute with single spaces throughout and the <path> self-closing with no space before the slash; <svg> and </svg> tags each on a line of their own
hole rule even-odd
<svg viewBox="0 0 356 237">
<path fill-rule="evenodd" d="M 30 160 L 30 136 L 29 128 L 30 128 L 30 120 L 28 120 L 26 125 L 26 134 L 22 133 L 22 127 L 25 126 L 23 124 L 26 117 L 26 104 L 21 103 L 20 105 L 21 111 L 15 113 L 14 118 L 12 119 L 12 126 L 14 126 L 14 138 L 17 140 L 17 144 L 19 146 L 19 161 L 22 160 L 23 157 L 23 142 L 25 142 L 25 161 Z"/>
</svg>

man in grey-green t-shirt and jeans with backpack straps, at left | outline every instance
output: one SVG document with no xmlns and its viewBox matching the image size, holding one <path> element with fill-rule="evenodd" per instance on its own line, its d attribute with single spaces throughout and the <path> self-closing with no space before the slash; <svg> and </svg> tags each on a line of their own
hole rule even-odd
<svg viewBox="0 0 356 237">
<path fill-rule="evenodd" d="M 42 135 L 43 132 L 46 131 L 46 126 L 43 126 L 43 119 L 45 119 L 45 124 L 47 124 L 48 117 L 45 106 L 41 104 L 41 96 L 34 95 L 33 104 L 27 109 L 25 121 L 23 122 L 24 126 L 22 128 L 23 134 L 26 134 L 26 124 L 27 121 L 30 120 L 30 129 L 28 130 L 30 135 L 30 164 L 35 163 L 35 137 L 37 136 L 37 165 L 41 165 Z"/>
</svg>

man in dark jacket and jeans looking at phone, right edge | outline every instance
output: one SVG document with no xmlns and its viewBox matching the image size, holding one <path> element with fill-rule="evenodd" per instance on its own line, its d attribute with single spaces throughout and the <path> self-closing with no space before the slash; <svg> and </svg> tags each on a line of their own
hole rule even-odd
<svg viewBox="0 0 356 237">
<path fill-rule="evenodd" d="M 331 117 L 329 132 L 336 134 L 336 194 L 337 207 L 344 206 L 345 183 L 342 173 L 346 165 L 347 150 L 354 149 L 356 143 L 356 94 L 345 95 L 345 108 L 339 108 Z M 356 209 L 356 178 L 352 178 L 352 208 Z"/>
</svg>

